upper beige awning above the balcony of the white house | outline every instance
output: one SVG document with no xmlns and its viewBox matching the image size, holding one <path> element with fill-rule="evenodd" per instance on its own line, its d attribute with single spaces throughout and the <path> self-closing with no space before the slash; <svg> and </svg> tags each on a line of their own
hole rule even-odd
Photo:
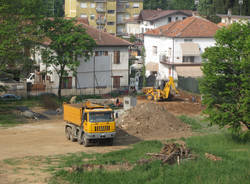
<svg viewBox="0 0 250 184">
<path fill-rule="evenodd" d="M 181 43 L 182 56 L 200 56 L 200 49 L 197 43 Z"/>
</svg>

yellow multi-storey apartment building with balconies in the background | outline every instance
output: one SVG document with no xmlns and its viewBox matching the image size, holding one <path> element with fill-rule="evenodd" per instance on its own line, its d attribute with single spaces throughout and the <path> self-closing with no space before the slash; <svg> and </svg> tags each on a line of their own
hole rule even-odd
<svg viewBox="0 0 250 184">
<path fill-rule="evenodd" d="M 65 0 L 66 17 L 88 18 L 89 24 L 109 33 L 125 33 L 125 20 L 138 16 L 143 0 Z"/>
</svg>

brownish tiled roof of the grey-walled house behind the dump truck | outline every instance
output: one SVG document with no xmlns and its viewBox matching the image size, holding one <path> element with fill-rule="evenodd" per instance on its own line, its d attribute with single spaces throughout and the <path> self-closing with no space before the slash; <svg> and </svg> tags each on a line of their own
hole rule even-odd
<svg viewBox="0 0 250 184">
<path fill-rule="evenodd" d="M 81 23 L 83 28 L 86 29 L 86 32 L 89 36 L 91 36 L 98 46 L 129 46 L 131 45 L 130 42 L 111 35 L 110 33 L 100 31 L 90 25 Z"/>
</svg>

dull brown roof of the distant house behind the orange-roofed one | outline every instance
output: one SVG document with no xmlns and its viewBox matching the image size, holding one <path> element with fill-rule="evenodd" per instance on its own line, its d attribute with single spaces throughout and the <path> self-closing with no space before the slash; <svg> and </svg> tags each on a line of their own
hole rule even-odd
<svg viewBox="0 0 250 184">
<path fill-rule="evenodd" d="M 139 19 L 154 21 L 177 13 L 192 16 L 192 10 L 142 10 L 140 12 Z"/>
</svg>

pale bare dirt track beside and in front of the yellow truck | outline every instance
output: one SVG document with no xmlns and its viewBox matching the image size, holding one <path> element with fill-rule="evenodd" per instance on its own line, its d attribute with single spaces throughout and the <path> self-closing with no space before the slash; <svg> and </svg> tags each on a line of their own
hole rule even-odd
<svg viewBox="0 0 250 184">
<path fill-rule="evenodd" d="M 105 153 L 126 148 L 130 141 L 117 140 L 114 146 L 85 148 L 67 141 L 63 120 L 49 120 L 0 129 L 0 160 L 37 155 L 55 155 L 84 151 Z M 133 142 L 133 141 L 132 141 Z"/>
</svg>

